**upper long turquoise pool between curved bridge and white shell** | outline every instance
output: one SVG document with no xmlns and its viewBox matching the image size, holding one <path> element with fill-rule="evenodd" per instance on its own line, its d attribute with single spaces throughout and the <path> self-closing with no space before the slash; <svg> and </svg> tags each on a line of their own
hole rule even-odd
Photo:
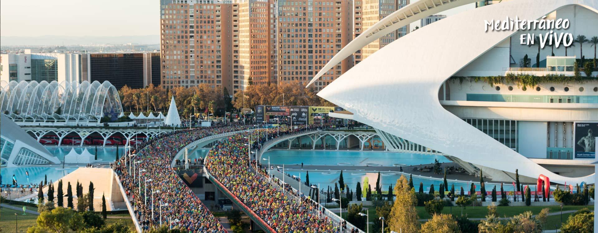
<svg viewBox="0 0 598 233">
<path fill-rule="evenodd" d="M 444 156 L 375 151 L 273 150 L 264 153 L 273 164 L 347 165 L 347 166 L 409 166 L 450 162 Z"/>
</svg>

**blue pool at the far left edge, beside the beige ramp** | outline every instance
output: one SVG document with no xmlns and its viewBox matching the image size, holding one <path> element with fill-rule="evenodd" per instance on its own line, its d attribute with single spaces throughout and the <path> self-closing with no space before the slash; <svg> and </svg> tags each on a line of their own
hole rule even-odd
<svg viewBox="0 0 598 233">
<path fill-rule="evenodd" d="M 13 184 L 13 175 L 17 179 L 17 184 L 39 184 L 44 181 L 44 176 L 48 176 L 48 182 L 57 181 L 63 178 L 68 173 L 77 170 L 77 167 L 2 167 L 0 175 L 2 175 L 2 184 Z M 29 181 L 25 172 L 29 172 Z"/>
</svg>

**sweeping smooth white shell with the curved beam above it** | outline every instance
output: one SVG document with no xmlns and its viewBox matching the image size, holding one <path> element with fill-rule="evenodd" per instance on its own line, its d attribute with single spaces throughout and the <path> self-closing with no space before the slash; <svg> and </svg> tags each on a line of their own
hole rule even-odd
<svg viewBox="0 0 598 233">
<path fill-rule="evenodd" d="M 310 84 L 387 31 L 446 10 L 441 8 L 443 6 L 453 8 L 474 2 L 443 0 L 444 5 L 438 5 L 440 1 L 415 1 L 383 18 L 335 55 Z M 429 2 L 435 2 L 437 8 L 423 11 L 422 5 L 432 6 Z M 445 80 L 517 33 L 484 32 L 484 20 L 516 16 L 535 20 L 568 5 L 580 5 L 598 13 L 596 0 L 514 0 L 451 15 L 370 55 L 318 95 L 351 111 L 359 122 L 469 163 L 507 172 L 519 169 L 520 175 L 530 178 L 544 174 L 559 184 L 587 182 L 593 175 L 569 178 L 554 174 L 454 116 L 438 100 L 438 91 Z M 414 8 L 420 9 L 419 13 L 416 14 Z M 403 23 L 401 17 L 405 18 Z M 393 24 L 392 20 L 399 21 Z"/>
</svg>

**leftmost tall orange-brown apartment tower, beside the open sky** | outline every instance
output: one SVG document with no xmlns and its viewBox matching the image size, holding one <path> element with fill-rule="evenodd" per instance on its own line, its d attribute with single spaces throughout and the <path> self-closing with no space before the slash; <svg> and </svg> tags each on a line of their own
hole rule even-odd
<svg viewBox="0 0 598 233">
<path fill-rule="evenodd" d="M 232 1 L 160 0 L 161 85 L 231 88 Z M 231 94 L 231 93 L 230 93 Z"/>
</svg>

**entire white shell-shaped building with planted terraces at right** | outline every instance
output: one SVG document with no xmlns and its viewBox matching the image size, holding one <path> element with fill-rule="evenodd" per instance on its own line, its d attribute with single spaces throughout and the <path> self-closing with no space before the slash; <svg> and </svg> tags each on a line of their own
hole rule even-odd
<svg viewBox="0 0 598 233">
<path fill-rule="evenodd" d="M 411 1 L 341 49 L 311 83 L 393 30 L 472 2 Z M 376 128 L 389 150 L 425 148 L 496 181 L 514 181 L 518 169 L 523 182 L 545 175 L 593 183 L 598 72 L 583 64 L 596 66 L 597 9 L 596 0 L 511 0 L 450 15 L 375 52 L 318 95 L 352 113 L 331 116 Z M 588 41 L 540 48 L 520 38 L 550 30 L 484 30 L 485 21 L 542 17 L 568 20 L 553 33 Z"/>
</svg>

